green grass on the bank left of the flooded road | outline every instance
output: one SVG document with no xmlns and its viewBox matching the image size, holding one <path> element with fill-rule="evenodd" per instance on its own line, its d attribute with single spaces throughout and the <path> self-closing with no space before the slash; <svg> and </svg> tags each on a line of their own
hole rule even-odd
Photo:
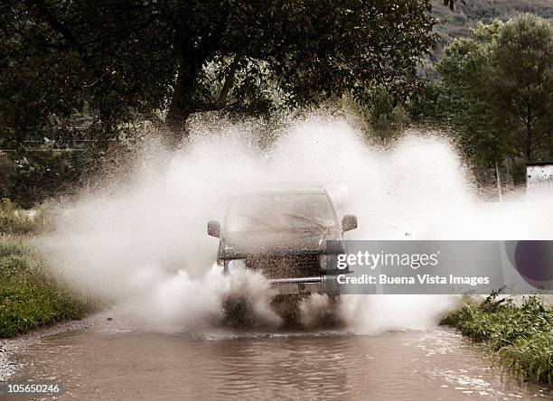
<svg viewBox="0 0 553 401">
<path fill-rule="evenodd" d="M 0 338 L 11 338 L 92 309 L 65 287 L 28 238 L 0 236 Z"/>
</svg>

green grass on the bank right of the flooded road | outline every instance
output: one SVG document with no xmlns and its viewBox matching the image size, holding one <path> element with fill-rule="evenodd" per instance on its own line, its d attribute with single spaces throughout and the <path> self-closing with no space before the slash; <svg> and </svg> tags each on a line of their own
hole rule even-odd
<svg viewBox="0 0 553 401">
<path fill-rule="evenodd" d="M 442 323 L 483 343 L 518 378 L 553 384 L 553 310 L 539 297 L 517 304 L 495 293 L 481 303 L 467 301 Z"/>
</svg>

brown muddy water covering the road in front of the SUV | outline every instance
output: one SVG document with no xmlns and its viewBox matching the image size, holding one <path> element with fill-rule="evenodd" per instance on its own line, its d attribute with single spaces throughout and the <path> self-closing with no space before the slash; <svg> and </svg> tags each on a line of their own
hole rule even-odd
<svg viewBox="0 0 553 401">
<path fill-rule="evenodd" d="M 553 399 L 546 388 L 501 378 L 482 355 L 445 329 L 206 337 L 82 330 L 19 351 L 12 379 L 55 380 L 60 399 Z"/>
</svg>

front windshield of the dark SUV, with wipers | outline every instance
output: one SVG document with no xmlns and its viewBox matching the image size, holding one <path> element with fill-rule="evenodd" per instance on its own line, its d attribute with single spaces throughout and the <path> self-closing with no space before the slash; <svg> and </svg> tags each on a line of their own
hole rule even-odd
<svg viewBox="0 0 553 401">
<path fill-rule="evenodd" d="M 228 232 L 324 231 L 336 221 L 325 193 L 271 193 L 232 200 L 225 226 Z"/>
</svg>

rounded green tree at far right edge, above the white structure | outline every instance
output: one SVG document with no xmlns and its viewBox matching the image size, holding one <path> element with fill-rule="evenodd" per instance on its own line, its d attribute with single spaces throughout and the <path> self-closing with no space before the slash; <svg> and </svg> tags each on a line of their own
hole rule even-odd
<svg viewBox="0 0 553 401">
<path fill-rule="evenodd" d="M 553 29 L 526 14 L 505 23 L 492 48 L 492 98 L 504 129 L 523 138 L 528 163 L 553 157 Z"/>
</svg>

